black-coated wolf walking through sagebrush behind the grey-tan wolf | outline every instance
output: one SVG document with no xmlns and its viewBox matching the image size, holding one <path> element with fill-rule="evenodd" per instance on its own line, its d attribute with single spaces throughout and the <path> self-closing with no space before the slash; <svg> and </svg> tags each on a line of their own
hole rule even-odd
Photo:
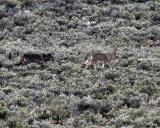
<svg viewBox="0 0 160 128">
<path fill-rule="evenodd" d="M 16 63 L 16 65 L 26 65 L 29 63 L 37 63 L 37 64 L 40 64 L 42 67 L 45 62 L 50 60 L 54 60 L 53 56 L 50 53 L 48 54 L 25 53 L 21 57 L 20 61 Z"/>
</svg>

